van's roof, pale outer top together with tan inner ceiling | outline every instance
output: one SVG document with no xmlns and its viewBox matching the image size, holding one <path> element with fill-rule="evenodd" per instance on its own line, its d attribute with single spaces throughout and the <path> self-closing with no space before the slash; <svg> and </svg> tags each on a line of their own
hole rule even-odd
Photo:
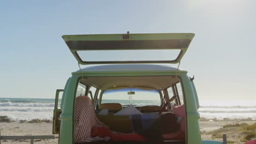
<svg viewBox="0 0 256 144">
<path fill-rule="evenodd" d="M 166 73 L 168 75 L 162 75 Z M 179 73 L 187 73 L 187 71 L 160 64 L 115 64 L 86 67 L 72 74 L 84 74 L 85 79 L 81 79 L 81 83 L 106 91 L 122 88 L 158 90 L 170 87 L 170 83 L 177 83 L 179 77 L 174 75 Z M 90 76 L 91 74 L 96 76 Z M 136 74 L 145 75 L 136 76 Z"/>
</svg>

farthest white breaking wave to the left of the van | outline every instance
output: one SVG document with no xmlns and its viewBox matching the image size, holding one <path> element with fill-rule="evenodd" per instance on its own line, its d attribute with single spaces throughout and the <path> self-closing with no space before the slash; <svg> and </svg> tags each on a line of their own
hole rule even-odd
<svg viewBox="0 0 256 144">
<path fill-rule="evenodd" d="M 0 106 L 19 106 L 19 107 L 54 107 L 54 103 L 11 103 L 10 101 L 0 103 Z"/>
</svg>

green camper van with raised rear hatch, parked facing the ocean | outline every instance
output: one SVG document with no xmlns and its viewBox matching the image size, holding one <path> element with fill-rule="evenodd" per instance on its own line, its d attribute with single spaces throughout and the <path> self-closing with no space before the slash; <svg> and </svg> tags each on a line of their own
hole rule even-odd
<svg viewBox="0 0 256 144">
<path fill-rule="evenodd" d="M 88 97 L 90 107 L 94 109 L 93 115 L 114 133 L 137 133 L 133 121 L 135 114 L 136 117 L 139 115 L 139 124 L 147 131 L 147 128 L 159 122 L 160 117 L 174 113 L 176 122 L 165 121 L 161 125 L 165 125 L 168 131 L 178 123 L 183 136 L 173 139 L 174 132 L 165 133 L 162 134 L 161 143 L 225 143 L 225 139 L 224 142 L 201 140 L 200 115 L 197 111 L 200 105 L 194 77 L 189 77 L 185 70 L 171 66 L 179 65 L 194 35 L 63 35 L 79 68 L 80 65 L 83 68 L 72 73 L 64 89 L 56 91 L 53 134 L 59 134 L 59 143 L 152 143 L 150 140 L 113 141 L 111 138 L 93 141 L 94 137 L 89 137 L 92 141 L 75 141 L 78 135 L 76 127 L 82 127 L 75 125 L 75 116 L 79 114 L 75 113 L 78 97 Z M 59 96 L 62 97 L 60 104 Z M 150 138 L 154 139 L 154 135 Z"/>
</svg>

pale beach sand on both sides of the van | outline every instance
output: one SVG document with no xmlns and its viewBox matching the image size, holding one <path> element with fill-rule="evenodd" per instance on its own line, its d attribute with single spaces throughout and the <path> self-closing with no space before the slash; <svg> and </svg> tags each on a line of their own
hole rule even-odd
<svg viewBox="0 0 256 144">
<path fill-rule="evenodd" d="M 202 132 L 201 138 L 203 140 L 212 139 L 212 135 L 207 135 L 208 132 L 212 130 L 216 130 L 222 128 L 225 124 L 235 124 L 235 123 L 247 123 L 252 124 L 254 122 L 200 122 L 200 130 Z M 53 135 L 52 134 L 53 123 L 19 123 L 19 122 L 11 122 L 11 123 L 0 123 L 0 131 L 2 136 L 8 135 Z M 234 135 L 227 135 L 228 141 L 238 141 L 238 137 L 236 137 L 236 131 L 234 131 Z M 216 139 L 222 140 L 222 139 Z M 55 135 L 54 140 L 35 140 L 34 143 L 57 143 L 58 135 Z M 30 143 L 30 140 L 2 140 L 2 143 Z M 235 142 L 236 143 L 236 142 Z M 237 142 L 244 143 L 244 142 Z"/>
</svg>

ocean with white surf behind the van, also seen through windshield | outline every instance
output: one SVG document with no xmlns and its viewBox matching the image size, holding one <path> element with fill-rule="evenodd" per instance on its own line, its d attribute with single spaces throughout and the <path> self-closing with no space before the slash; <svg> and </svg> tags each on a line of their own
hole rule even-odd
<svg viewBox="0 0 256 144">
<path fill-rule="evenodd" d="M 31 119 L 53 119 L 54 99 L 21 99 L 0 98 L 0 116 L 8 116 L 13 121 Z M 118 100 L 122 105 L 129 104 L 128 100 Z M 117 100 L 105 100 L 102 103 L 118 103 Z M 132 100 L 132 104 L 158 105 L 155 100 Z M 60 104 L 60 102 L 59 102 Z M 207 119 L 223 118 L 256 120 L 256 101 L 217 101 L 201 100 L 199 108 L 200 116 Z"/>
</svg>

